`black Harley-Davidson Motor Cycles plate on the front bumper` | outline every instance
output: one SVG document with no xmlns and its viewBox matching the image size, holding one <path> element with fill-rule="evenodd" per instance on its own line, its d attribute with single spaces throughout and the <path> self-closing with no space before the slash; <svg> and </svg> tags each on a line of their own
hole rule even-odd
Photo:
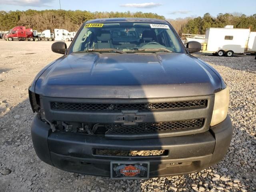
<svg viewBox="0 0 256 192">
<path fill-rule="evenodd" d="M 111 179 L 148 179 L 149 162 L 110 162 Z"/>
</svg>

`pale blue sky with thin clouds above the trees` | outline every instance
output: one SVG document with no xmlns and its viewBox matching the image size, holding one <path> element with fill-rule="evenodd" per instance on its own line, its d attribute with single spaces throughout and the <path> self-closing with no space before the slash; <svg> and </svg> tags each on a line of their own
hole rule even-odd
<svg viewBox="0 0 256 192">
<path fill-rule="evenodd" d="M 91 12 L 152 12 L 165 18 L 203 16 L 210 13 L 256 14 L 256 0 L 60 0 L 64 10 L 87 10 Z M 0 10 L 60 9 L 59 0 L 0 0 Z"/>
</svg>

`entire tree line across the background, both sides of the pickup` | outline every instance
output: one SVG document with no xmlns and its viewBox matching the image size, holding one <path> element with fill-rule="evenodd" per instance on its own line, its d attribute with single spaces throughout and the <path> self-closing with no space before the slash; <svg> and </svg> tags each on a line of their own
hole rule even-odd
<svg viewBox="0 0 256 192">
<path fill-rule="evenodd" d="M 96 18 L 139 17 L 165 19 L 164 16 L 143 12 L 90 12 L 81 10 L 26 10 L 0 11 L 0 30 L 7 31 L 15 26 L 26 26 L 33 30 L 43 31 L 54 28 L 64 28 L 68 31 L 77 31 L 83 22 Z M 250 28 L 256 31 L 256 14 L 218 14 L 216 17 L 209 13 L 203 17 L 187 17 L 167 19 L 179 35 L 182 33 L 205 34 L 206 28 L 234 25 L 234 28 Z"/>
</svg>

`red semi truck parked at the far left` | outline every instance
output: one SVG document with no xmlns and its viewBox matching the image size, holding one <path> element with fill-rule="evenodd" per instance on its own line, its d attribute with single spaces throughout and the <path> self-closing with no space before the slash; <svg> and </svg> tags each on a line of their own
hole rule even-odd
<svg viewBox="0 0 256 192">
<path fill-rule="evenodd" d="M 10 34 L 5 36 L 5 40 L 13 41 L 13 40 L 27 40 L 27 41 L 37 41 L 40 40 L 38 36 L 33 36 L 32 28 L 27 28 L 24 26 L 17 26 L 10 30 Z"/>
</svg>

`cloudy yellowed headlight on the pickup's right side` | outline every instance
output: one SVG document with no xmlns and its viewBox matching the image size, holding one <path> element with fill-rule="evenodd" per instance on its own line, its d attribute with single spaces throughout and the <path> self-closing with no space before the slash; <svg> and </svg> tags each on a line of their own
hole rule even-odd
<svg viewBox="0 0 256 192">
<path fill-rule="evenodd" d="M 229 88 L 228 86 L 221 90 L 220 92 L 215 93 L 214 99 L 214 108 L 212 113 L 212 121 L 210 126 L 219 124 L 228 114 L 228 103 L 229 103 Z"/>
</svg>

